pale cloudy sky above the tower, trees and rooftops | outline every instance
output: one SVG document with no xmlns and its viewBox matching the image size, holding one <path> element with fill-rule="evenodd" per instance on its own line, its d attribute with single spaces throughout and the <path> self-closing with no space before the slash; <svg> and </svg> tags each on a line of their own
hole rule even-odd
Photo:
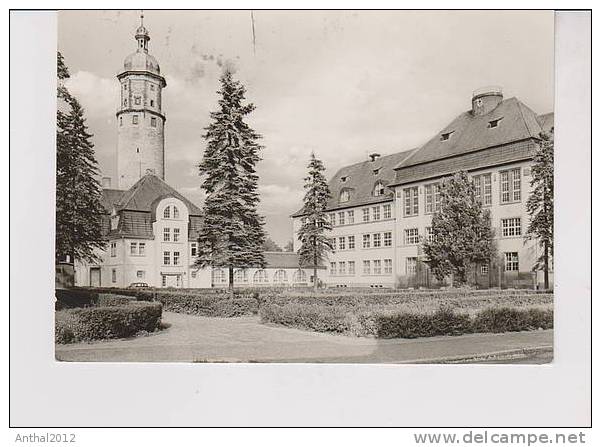
<svg viewBox="0 0 601 447">
<path fill-rule="evenodd" d="M 119 83 L 139 11 L 61 11 L 66 83 L 85 109 L 103 176 L 116 181 Z M 165 181 L 201 205 L 197 165 L 227 64 L 256 106 L 263 138 L 259 211 L 280 246 L 292 239 L 311 152 L 341 167 L 424 144 L 503 87 L 537 113 L 553 110 L 551 11 L 145 11 L 163 90 Z M 254 42 L 253 42 L 254 40 Z"/>
</svg>

